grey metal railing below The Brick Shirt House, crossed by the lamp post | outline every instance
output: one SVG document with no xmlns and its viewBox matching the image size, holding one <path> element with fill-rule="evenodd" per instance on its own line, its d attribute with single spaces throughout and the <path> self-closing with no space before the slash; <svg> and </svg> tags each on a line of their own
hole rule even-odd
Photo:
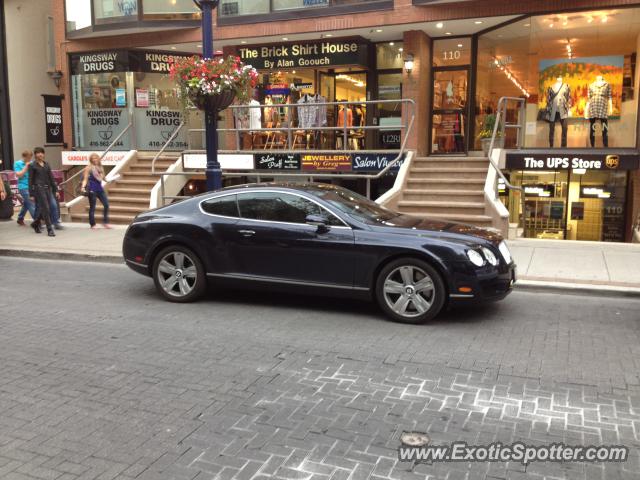
<svg viewBox="0 0 640 480">
<path fill-rule="evenodd" d="M 400 130 L 401 132 L 404 131 L 404 135 L 403 139 L 401 141 L 401 145 L 400 145 L 400 149 L 392 149 L 392 150 L 375 150 L 376 153 L 397 153 L 395 158 L 393 158 L 393 160 L 390 160 L 387 164 L 387 166 L 385 168 L 383 168 L 380 172 L 377 172 L 375 174 L 366 174 L 366 173 L 342 173 L 342 172 L 308 172 L 308 173 L 302 173 L 302 172 L 264 172 L 264 171 L 260 171 L 260 170 L 244 170 L 242 172 L 230 172 L 230 171 L 225 171 L 222 173 L 222 175 L 224 177 L 246 177 L 246 176 L 256 176 L 258 178 L 258 182 L 260 181 L 260 177 L 261 176 L 266 176 L 269 178 L 279 178 L 279 177 L 287 177 L 287 178 L 291 178 L 291 177 L 302 177 L 302 178 L 308 178 L 310 180 L 313 180 L 314 178 L 333 178 L 333 177 L 339 177 L 339 178 L 359 178 L 359 179 L 364 179 L 367 181 L 367 185 L 366 185 L 366 190 L 367 190 L 367 196 L 369 197 L 371 194 L 371 181 L 372 180 L 376 180 L 379 179 L 381 177 L 383 177 L 384 175 L 386 175 L 387 173 L 389 173 L 389 171 L 396 166 L 396 164 L 398 162 L 400 162 L 402 160 L 402 158 L 404 157 L 405 152 L 407 151 L 407 141 L 409 139 L 409 133 L 412 131 L 414 123 L 415 123 L 415 101 L 412 99 L 399 99 L 399 100 L 368 100 L 368 101 L 364 101 L 364 102 L 323 102 L 323 103 L 304 103 L 304 104 L 297 104 L 297 103 L 293 103 L 293 104 L 272 104 L 272 105 L 231 105 L 229 107 L 230 110 L 237 110 L 237 109 L 251 109 L 251 108 L 283 108 L 283 109 L 288 109 L 288 108 L 300 108 L 300 107 L 313 107 L 313 106 L 319 106 L 319 107 L 331 107 L 331 106 L 347 106 L 347 105 L 353 105 L 353 104 L 358 104 L 358 105 L 380 105 L 380 104 L 406 104 L 409 108 L 408 111 L 406 112 L 405 116 L 404 116 L 404 122 L 402 122 L 400 125 L 370 125 L 370 126 L 348 126 L 347 125 L 347 111 L 346 109 L 344 109 L 344 125 L 342 127 L 329 127 L 329 126 L 323 126 L 323 127 L 308 127 L 308 128 L 300 128 L 300 127 L 294 127 L 291 125 L 291 122 L 288 122 L 286 125 L 282 125 L 280 127 L 265 127 L 265 128 L 220 128 L 218 129 L 219 132 L 235 132 L 236 133 L 236 146 L 240 146 L 240 134 L 241 133 L 257 133 L 257 132 L 286 132 L 287 134 L 287 139 L 288 139 L 288 146 L 291 146 L 291 139 L 292 139 L 292 133 L 293 132 L 298 132 L 298 131 L 342 131 L 343 132 L 343 146 L 347 146 L 348 144 L 348 137 L 349 137 L 349 131 L 351 130 L 378 130 L 378 131 L 384 131 L 384 130 Z M 184 123 L 184 122 L 183 122 Z M 181 127 L 178 128 L 178 130 L 182 128 Z M 174 132 L 174 135 L 172 135 L 172 137 L 165 143 L 165 145 L 163 146 L 162 151 L 164 151 L 164 149 L 168 146 L 168 144 L 172 141 L 172 139 L 174 138 L 175 135 L 177 135 L 178 130 L 176 130 L 176 132 Z M 189 129 L 187 134 L 190 136 L 190 134 L 192 133 L 202 133 L 204 132 L 204 129 Z M 190 138 L 188 138 L 188 142 L 190 143 Z M 314 150 L 301 150 L 301 149 L 278 149 L 278 150 L 255 150 L 255 149 L 251 149 L 251 150 L 242 150 L 240 148 L 238 148 L 237 150 L 219 150 L 219 153 L 240 153 L 240 154 L 260 154 L 260 153 L 267 153 L 267 152 L 272 152 L 272 153 L 278 153 L 278 154 L 300 154 L 302 152 L 306 153 L 306 154 L 314 154 L 314 153 L 326 153 L 327 150 L 320 150 L 320 149 L 314 149 Z M 362 154 L 366 154 L 368 152 L 372 152 L 371 150 L 348 150 L 348 149 L 342 149 L 342 150 L 330 150 L 330 152 L 332 154 L 353 154 L 353 153 L 362 153 Z M 197 149 L 188 149 L 188 150 L 184 150 L 181 155 L 180 158 L 183 160 L 184 162 L 184 155 L 186 154 L 203 154 L 206 153 L 206 150 L 197 150 Z M 160 155 L 156 155 L 156 158 L 159 157 Z M 155 159 L 154 159 L 155 161 Z M 184 163 L 183 163 L 184 166 Z M 164 195 L 164 178 L 165 176 L 193 176 L 194 174 L 197 174 L 198 171 L 189 171 L 189 172 L 155 172 L 152 168 L 152 173 L 154 175 L 159 175 L 160 176 L 160 184 L 161 184 L 161 197 L 162 197 L 162 201 L 164 204 L 165 200 L 175 200 L 175 199 L 184 199 L 184 198 L 188 198 L 186 196 L 166 196 Z"/>
</svg>

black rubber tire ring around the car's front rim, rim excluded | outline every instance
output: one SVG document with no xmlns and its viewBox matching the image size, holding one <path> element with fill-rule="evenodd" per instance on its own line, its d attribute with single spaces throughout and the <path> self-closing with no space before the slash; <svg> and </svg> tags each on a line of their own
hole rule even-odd
<svg viewBox="0 0 640 480">
<path fill-rule="evenodd" d="M 428 312 L 417 317 L 402 317 L 401 315 L 398 315 L 393 310 L 391 310 L 391 308 L 387 305 L 386 300 L 384 299 L 384 291 L 383 291 L 384 281 L 387 278 L 387 275 L 389 275 L 389 273 L 391 273 L 396 268 L 401 267 L 403 265 L 415 266 L 415 267 L 421 268 L 422 270 L 427 272 L 427 274 L 431 277 L 431 280 L 433 281 L 433 286 L 434 286 L 433 304 Z M 384 313 L 389 318 L 391 318 L 394 322 L 399 322 L 399 323 L 409 323 L 409 324 L 418 325 L 418 324 L 426 323 L 429 320 L 432 320 L 434 317 L 436 317 L 440 313 L 440 311 L 444 307 L 444 304 L 446 301 L 446 291 L 447 290 L 445 287 L 445 283 L 442 280 L 442 276 L 440 275 L 440 273 L 434 267 L 432 267 L 429 263 L 417 258 L 405 257 L 405 258 L 399 258 L 397 260 L 389 262 L 380 271 L 380 274 L 376 279 L 376 300 L 378 301 L 380 308 L 382 308 Z"/>
</svg>

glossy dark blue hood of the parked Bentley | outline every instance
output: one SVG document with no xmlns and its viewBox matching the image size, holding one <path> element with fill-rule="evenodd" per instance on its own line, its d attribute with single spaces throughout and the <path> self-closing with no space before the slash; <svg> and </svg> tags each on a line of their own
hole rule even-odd
<svg viewBox="0 0 640 480">
<path fill-rule="evenodd" d="M 449 222 L 432 218 L 419 218 L 412 215 L 400 215 L 388 222 L 381 223 L 374 228 L 391 230 L 394 233 L 405 233 L 420 237 L 449 238 L 464 242 L 484 240 L 494 245 L 499 244 L 503 237 L 494 230 L 479 228 L 465 223 Z"/>
</svg>

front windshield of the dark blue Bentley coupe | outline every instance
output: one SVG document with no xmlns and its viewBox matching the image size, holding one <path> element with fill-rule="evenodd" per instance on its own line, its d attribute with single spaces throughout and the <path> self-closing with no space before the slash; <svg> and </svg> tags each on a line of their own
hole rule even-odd
<svg viewBox="0 0 640 480">
<path fill-rule="evenodd" d="M 393 225 L 393 219 L 401 216 L 400 213 L 378 205 L 346 188 L 332 186 L 331 188 L 314 190 L 313 194 L 329 202 L 341 212 L 370 225 Z"/>
</svg>

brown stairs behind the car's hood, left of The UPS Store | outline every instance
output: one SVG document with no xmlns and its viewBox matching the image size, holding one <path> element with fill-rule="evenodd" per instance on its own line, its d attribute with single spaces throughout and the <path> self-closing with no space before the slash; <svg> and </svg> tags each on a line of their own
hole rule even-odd
<svg viewBox="0 0 640 480">
<path fill-rule="evenodd" d="M 412 164 L 397 210 L 417 217 L 491 227 L 485 215 L 483 157 L 418 157 Z"/>
</svg>

